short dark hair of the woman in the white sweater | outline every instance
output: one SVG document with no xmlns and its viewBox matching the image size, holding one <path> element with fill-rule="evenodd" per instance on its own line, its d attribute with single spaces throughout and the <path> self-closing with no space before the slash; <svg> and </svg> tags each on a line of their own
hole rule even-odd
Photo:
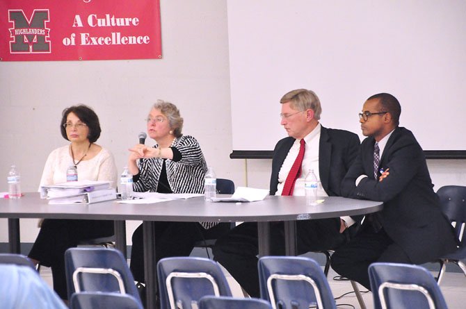
<svg viewBox="0 0 466 309">
<path fill-rule="evenodd" d="M 97 114 L 92 108 L 84 104 L 70 106 L 69 108 L 65 108 L 63 110 L 63 112 L 61 113 L 62 118 L 60 124 L 61 136 L 63 136 L 65 140 L 68 140 L 68 137 L 66 135 L 66 128 L 63 126 L 63 124 L 66 123 L 66 119 L 70 112 L 72 112 L 74 115 L 77 115 L 79 120 L 81 120 L 81 122 L 85 123 L 88 126 L 89 142 L 93 143 L 97 141 L 99 139 L 100 132 L 102 132 L 102 130 L 100 129 L 99 117 L 97 117 Z"/>
</svg>

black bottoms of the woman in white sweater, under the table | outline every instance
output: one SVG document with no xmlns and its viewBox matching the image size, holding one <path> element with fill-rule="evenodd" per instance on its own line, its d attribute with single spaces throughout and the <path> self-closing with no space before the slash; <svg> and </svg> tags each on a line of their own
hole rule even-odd
<svg viewBox="0 0 466 309">
<path fill-rule="evenodd" d="M 54 290 L 61 299 L 67 299 L 65 251 L 77 247 L 82 240 L 107 237 L 113 233 L 113 221 L 45 219 L 29 258 L 51 267 Z"/>
</svg>

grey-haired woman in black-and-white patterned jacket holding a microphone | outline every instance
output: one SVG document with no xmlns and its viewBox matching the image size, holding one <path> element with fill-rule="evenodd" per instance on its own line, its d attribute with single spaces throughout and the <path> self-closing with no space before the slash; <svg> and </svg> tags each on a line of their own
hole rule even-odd
<svg viewBox="0 0 466 309">
<path fill-rule="evenodd" d="M 183 118 L 178 108 L 157 100 L 147 117 L 147 133 L 155 147 L 136 144 L 130 149 L 128 169 L 133 174 L 134 191 L 159 193 L 203 193 L 207 164 L 194 137 L 182 135 Z M 156 262 L 170 256 L 189 256 L 195 242 L 222 230 L 220 224 L 202 222 L 155 222 Z M 131 272 L 144 281 L 143 226 L 132 237 Z"/>
</svg>

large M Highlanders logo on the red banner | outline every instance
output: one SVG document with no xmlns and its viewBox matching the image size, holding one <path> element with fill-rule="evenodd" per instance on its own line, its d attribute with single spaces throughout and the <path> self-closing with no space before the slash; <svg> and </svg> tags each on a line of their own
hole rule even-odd
<svg viewBox="0 0 466 309">
<path fill-rule="evenodd" d="M 10 53 L 50 53 L 49 10 L 34 10 L 28 19 L 22 10 L 8 10 L 11 37 Z"/>
</svg>

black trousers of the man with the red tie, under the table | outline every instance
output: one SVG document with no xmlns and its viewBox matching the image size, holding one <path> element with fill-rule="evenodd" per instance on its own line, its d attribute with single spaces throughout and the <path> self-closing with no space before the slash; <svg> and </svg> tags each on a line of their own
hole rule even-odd
<svg viewBox="0 0 466 309">
<path fill-rule="evenodd" d="M 298 254 L 335 249 L 349 240 L 350 231 L 339 233 L 340 219 L 296 222 Z M 220 237 L 214 247 L 214 258 L 238 281 L 250 297 L 260 297 L 257 272 L 257 223 L 244 222 Z M 284 223 L 271 223 L 271 255 L 283 256 Z"/>
</svg>

